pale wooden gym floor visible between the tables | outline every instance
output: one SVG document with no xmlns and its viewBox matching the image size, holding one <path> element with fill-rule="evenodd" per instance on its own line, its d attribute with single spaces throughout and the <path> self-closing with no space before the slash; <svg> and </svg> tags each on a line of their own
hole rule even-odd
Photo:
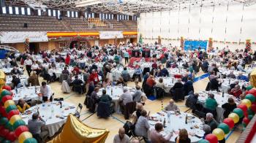
<svg viewBox="0 0 256 143">
<path fill-rule="evenodd" d="M 26 72 L 26 71 L 25 71 Z M 25 73 L 26 74 L 26 73 Z M 202 73 L 200 73 L 202 74 Z M 199 76 L 200 74 L 197 74 Z M 42 82 L 42 78 L 39 77 L 39 82 Z M 200 90 L 205 90 L 206 85 L 208 83 L 208 78 L 205 78 L 203 80 L 199 80 L 194 83 L 194 88 L 195 92 L 198 92 Z M 141 84 L 141 82 L 140 82 Z M 134 82 L 129 82 L 128 83 L 129 87 L 135 87 Z M 78 103 L 83 104 L 83 101 L 85 100 L 85 95 L 79 95 L 78 93 L 62 93 L 61 92 L 61 83 L 60 82 L 53 82 L 50 83 L 50 87 L 52 88 L 53 92 L 55 93 L 55 98 L 63 97 L 64 101 L 70 102 L 75 104 L 76 106 Z M 170 97 L 165 97 L 163 100 L 164 107 L 167 105 L 168 101 L 170 100 Z M 187 110 L 187 107 L 184 106 L 184 101 L 180 101 L 176 103 L 178 107 L 181 109 L 181 112 L 184 112 Z M 146 105 L 144 106 L 146 111 L 150 111 L 151 114 L 154 114 L 155 112 L 159 112 L 161 110 L 161 101 L 159 100 L 147 100 Z M 86 107 L 83 107 L 82 112 L 81 112 L 81 117 L 80 120 L 85 119 L 86 117 L 89 117 L 91 113 L 86 109 Z M 122 127 L 126 120 L 124 120 L 124 115 L 118 115 L 114 113 L 112 115 L 113 117 L 109 117 L 108 119 L 102 119 L 97 117 L 97 114 L 91 115 L 91 117 L 87 118 L 86 120 L 83 120 L 83 123 L 86 123 L 86 125 L 89 125 L 94 128 L 107 128 L 110 131 L 110 134 L 108 135 L 108 138 L 106 142 L 110 143 L 113 142 L 113 136 L 118 134 L 118 128 Z M 236 130 L 233 131 L 232 134 L 227 139 L 227 143 L 233 143 L 236 142 L 238 137 L 240 136 L 241 131 Z"/>
</svg>

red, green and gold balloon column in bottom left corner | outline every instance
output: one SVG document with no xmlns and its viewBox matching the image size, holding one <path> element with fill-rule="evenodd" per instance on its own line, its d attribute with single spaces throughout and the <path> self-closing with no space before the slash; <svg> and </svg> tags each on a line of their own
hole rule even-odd
<svg viewBox="0 0 256 143">
<path fill-rule="evenodd" d="M 12 101 L 10 86 L 4 85 L 0 95 L 0 142 L 37 143 L 21 119 L 20 112 Z"/>
</svg>

